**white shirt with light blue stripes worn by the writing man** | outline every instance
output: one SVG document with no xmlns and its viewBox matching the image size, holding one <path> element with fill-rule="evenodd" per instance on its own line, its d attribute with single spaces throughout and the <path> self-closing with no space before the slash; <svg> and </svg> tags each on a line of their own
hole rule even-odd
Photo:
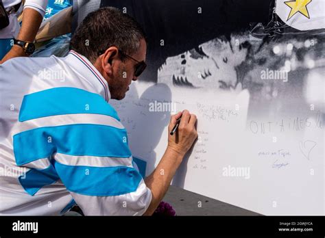
<svg viewBox="0 0 325 238">
<path fill-rule="evenodd" d="M 108 104 L 106 80 L 82 55 L 0 65 L 0 215 L 142 215 L 152 192 Z"/>
</svg>

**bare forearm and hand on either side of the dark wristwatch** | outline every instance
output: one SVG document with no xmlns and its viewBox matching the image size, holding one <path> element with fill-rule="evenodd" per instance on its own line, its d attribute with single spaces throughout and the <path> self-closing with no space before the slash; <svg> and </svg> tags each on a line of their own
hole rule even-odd
<svg viewBox="0 0 325 238">
<path fill-rule="evenodd" d="M 37 31 L 40 27 L 40 23 L 43 21 L 43 14 L 40 14 L 37 10 L 33 8 L 24 8 L 23 10 L 23 24 L 21 25 L 21 30 L 19 31 L 17 40 L 23 40 L 26 42 L 34 42 Z M 4 63 L 8 59 L 14 57 L 27 56 L 23 51 L 23 48 L 13 45 L 12 49 L 3 57 L 0 64 Z"/>
</svg>

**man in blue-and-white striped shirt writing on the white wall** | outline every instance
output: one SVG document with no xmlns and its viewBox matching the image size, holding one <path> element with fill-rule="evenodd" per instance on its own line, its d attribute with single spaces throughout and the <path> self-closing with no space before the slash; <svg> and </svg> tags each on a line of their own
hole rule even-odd
<svg viewBox="0 0 325 238">
<path fill-rule="evenodd" d="M 197 131 L 189 111 L 171 116 L 169 131 L 182 117 L 178 134 L 169 135 L 157 168 L 147 178 L 134 168 L 108 101 L 125 97 L 145 55 L 139 24 L 101 8 L 77 28 L 67 57 L 0 66 L 0 168 L 23 170 L 1 176 L 1 215 L 59 215 L 75 202 L 85 215 L 154 213 Z"/>
</svg>

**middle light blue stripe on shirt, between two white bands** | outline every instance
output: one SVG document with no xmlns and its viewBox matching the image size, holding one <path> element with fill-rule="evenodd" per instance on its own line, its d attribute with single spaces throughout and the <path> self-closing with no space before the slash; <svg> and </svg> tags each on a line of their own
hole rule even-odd
<svg viewBox="0 0 325 238">
<path fill-rule="evenodd" d="M 69 124 L 40 127 L 14 135 L 16 164 L 62 153 L 96 157 L 130 157 L 125 129 L 101 124 Z"/>
</svg>

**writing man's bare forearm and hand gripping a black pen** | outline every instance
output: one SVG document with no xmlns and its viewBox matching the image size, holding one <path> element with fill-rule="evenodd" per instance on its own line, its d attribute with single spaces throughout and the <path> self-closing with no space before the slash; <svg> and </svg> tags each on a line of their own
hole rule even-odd
<svg viewBox="0 0 325 238">
<path fill-rule="evenodd" d="M 196 116 L 189 114 L 187 110 L 171 117 L 168 131 L 170 132 L 173 129 L 176 120 L 180 116 L 182 116 L 180 127 L 178 127 L 176 134 L 169 134 L 168 146 L 163 158 L 160 160 L 154 172 L 145 178 L 145 184 L 152 191 L 152 201 L 143 215 L 152 215 L 154 213 L 159 202 L 165 196 L 171 179 L 175 175 L 180 163 L 182 163 L 184 155 L 197 138 L 197 131 L 195 129 Z"/>
</svg>

